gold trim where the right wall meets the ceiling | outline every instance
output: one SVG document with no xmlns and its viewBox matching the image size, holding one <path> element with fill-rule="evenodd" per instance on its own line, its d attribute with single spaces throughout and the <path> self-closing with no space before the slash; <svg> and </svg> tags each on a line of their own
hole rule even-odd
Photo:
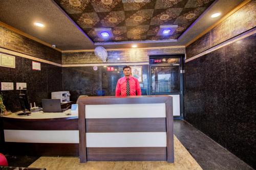
<svg viewBox="0 0 256 170">
<path fill-rule="evenodd" d="M 204 30 L 201 34 L 199 34 L 198 36 L 196 36 L 193 40 L 189 41 L 188 43 L 185 44 L 185 47 L 187 47 L 188 45 L 190 45 L 191 43 L 195 42 L 197 39 L 199 39 L 200 37 L 202 37 L 204 34 L 206 34 L 207 32 L 209 32 L 211 29 L 215 28 L 219 23 L 221 23 L 223 20 L 225 20 L 226 18 L 228 18 L 230 15 L 232 15 L 233 13 L 237 12 L 239 9 L 241 9 L 243 6 L 245 6 L 246 4 L 248 4 L 251 0 L 245 0 L 244 2 L 242 2 L 241 4 L 239 4 L 238 6 L 236 6 L 234 9 L 232 9 L 230 12 L 228 12 L 225 16 L 223 16 L 220 20 L 218 20 L 217 22 L 214 23 L 214 25 L 208 27 L 206 30 Z M 194 24 L 194 23 L 193 23 Z M 184 32 L 185 33 L 185 32 Z M 182 35 L 181 35 L 182 36 Z M 180 37 L 181 37 L 180 36 Z"/>
</svg>

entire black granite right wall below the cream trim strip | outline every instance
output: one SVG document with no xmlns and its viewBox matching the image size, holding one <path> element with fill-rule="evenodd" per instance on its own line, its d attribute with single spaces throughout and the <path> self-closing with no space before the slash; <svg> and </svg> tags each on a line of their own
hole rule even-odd
<svg viewBox="0 0 256 170">
<path fill-rule="evenodd" d="M 185 120 L 256 168 L 256 34 L 185 63 Z"/>
</svg>

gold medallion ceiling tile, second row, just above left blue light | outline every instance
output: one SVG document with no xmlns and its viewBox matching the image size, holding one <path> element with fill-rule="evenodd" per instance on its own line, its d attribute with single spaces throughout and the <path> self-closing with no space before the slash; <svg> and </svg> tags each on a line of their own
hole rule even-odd
<svg viewBox="0 0 256 170">
<path fill-rule="evenodd" d="M 103 27 L 116 27 L 119 26 L 124 19 L 124 11 L 114 11 L 102 18 L 101 24 Z"/>
</svg>

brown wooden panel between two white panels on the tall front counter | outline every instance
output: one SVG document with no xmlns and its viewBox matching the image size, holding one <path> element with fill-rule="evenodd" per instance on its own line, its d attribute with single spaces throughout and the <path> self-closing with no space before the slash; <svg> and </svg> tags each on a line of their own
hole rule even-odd
<svg viewBox="0 0 256 170">
<path fill-rule="evenodd" d="M 166 132 L 166 119 L 87 118 L 86 132 Z"/>
</svg>

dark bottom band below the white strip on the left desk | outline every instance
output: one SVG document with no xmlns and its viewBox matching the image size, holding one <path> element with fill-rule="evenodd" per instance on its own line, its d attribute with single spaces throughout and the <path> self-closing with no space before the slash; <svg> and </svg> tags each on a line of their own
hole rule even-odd
<svg viewBox="0 0 256 170">
<path fill-rule="evenodd" d="M 18 143 L 6 142 L 11 155 L 79 156 L 79 143 Z"/>
</svg>

